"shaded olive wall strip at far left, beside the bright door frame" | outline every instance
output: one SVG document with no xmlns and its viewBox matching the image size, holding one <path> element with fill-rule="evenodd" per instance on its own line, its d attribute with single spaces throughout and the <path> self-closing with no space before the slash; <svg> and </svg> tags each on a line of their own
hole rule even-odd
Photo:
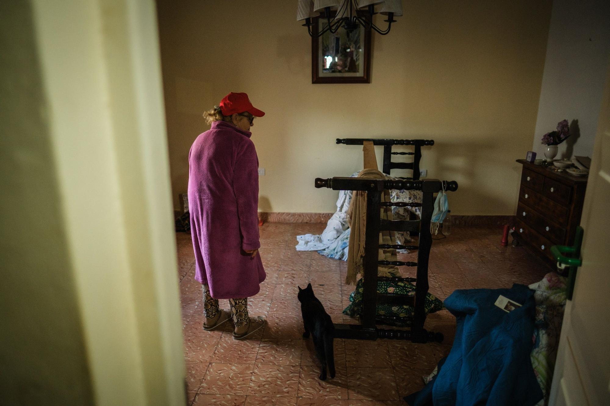
<svg viewBox="0 0 610 406">
<path fill-rule="evenodd" d="M 0 404 L 93 390 L 29 2 L 0 2 Z"/>
</svg>

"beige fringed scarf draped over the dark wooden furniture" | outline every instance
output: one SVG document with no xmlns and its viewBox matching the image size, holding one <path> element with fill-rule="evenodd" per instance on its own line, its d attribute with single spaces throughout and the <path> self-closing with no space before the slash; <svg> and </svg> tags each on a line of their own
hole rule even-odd
<svg viewBox="0 0 610 406">
<path fill-rule="evenodd" d="M 364 177 L 366 179 L 386 179 L 386 176 L 379 172 L 376 168 L 364 169 L 361 171 L 361 173 L 358 174 L 358 177 Z M 389 190 L 384 190 L 381 193 L 381 201 L 390 201 Z M 392 220 L 393 217 L 391 207 L 382 206 L 380 212 L 382 219 Z M 367 229 L 367 192 L 354 191 L 353 197 L 350 202 L 350 208 L 348 209 L 348 216 L 350 218 L 351 232 L 347 258 L 347 276 L 345 277 L 345 283 L 355 285 L 357 277 L 359 275 L 364 275 L 362 259 L 364 258 L 365 231 Z M 379 233 L 379 244 L 395 244 L 395 241 L 395 232 L 382 231 L 381 233 Z M 380 249 L 378 259 L 396 261 L 396 250 Z M 398 268 L 396 266 L 380 265 L 378 268 L 378 276 L 400 276 L 400 272 L 398 272 Z"/>
</svg>

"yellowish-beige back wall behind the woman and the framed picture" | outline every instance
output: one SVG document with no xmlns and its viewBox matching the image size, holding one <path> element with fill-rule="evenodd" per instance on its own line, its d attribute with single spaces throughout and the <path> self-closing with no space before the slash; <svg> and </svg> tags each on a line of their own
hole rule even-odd
<svg viewBox="0 0 610 406">
<path fill-rule="evenodd" d="M 266 171 L 261 211 L 334 212 L 337 192 L 315 189 L 315 177 L 362 168 L 361 149 L 335 139 L 375 137 L 434 139 L 422 168 L 458 180 L 453 213 L 514 213 L 514 161 L 531 148 L 551 1 L 405 1 L 392 32 L 373 35 L 371 83 L 350 85 L 311 84 L 294 1 L 157 5 L 175 208 L 188 149 L 209 129 L 201 113 L 245 91 L 267 113 L 252 138 Z"/>
</svg>

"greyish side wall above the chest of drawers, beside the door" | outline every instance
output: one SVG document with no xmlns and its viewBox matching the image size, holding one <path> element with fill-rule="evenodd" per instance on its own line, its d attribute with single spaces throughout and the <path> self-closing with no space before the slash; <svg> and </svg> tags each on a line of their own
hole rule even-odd
<svg viewBox="0 0 610 406">
<path fill-rule="evenodd" d="M 608 63 L 610 2 L 554 0 L 532 151 L 544 158 L 540 138 L 565 118 L 573 135 L 556 158 L 592 156 Z"/>
</svg>

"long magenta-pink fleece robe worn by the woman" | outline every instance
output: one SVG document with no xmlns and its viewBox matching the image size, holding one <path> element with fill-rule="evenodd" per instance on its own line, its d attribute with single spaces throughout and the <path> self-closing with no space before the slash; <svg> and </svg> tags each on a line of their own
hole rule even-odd
<svg viewBox="0 0 610 406">
<path fill-rule="evenodd" d="M 249 131 L 223 121 L 196 138 L 188 153 L 188 210 L 195 279 L 215 299 L 249 297 L 265 280 L 258 227 L 259 159 Z"/>
</svg>

